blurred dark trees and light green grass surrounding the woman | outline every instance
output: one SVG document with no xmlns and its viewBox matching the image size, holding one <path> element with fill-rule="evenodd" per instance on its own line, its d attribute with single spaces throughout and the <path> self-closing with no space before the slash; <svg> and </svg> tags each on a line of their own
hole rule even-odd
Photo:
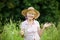
<svg viewBox="0 0 60 40">
<path fill-rule="evenodd" d="M 19 25 L 25 20 L 21 11 L 30 6 L 40 12 L 37 20 L 41 27 L 46 22 L 53 23 L 41 40 L 60 40 L 60 0 L 0 0 L 0 40 L 24 39 L 19 33 Z"/>
</svg>

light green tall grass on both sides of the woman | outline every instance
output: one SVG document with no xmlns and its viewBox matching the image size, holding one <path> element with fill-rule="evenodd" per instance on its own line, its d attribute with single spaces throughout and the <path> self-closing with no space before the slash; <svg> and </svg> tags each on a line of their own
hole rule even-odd
<svg viewBox="0 0 60 40">
<path fill-rule="evenodd" d="M 17 28 L 16 23 L 12 21 L 4 25 L 4 30 L 0 34 L 0 40 L 23 40 L 20 35 L 20 29 Z M 60 23 L 56 28 L 55 25 L 52 25 L 49 28 L 44 30 L 41 40 L 60 40 Z"/>
</svg>

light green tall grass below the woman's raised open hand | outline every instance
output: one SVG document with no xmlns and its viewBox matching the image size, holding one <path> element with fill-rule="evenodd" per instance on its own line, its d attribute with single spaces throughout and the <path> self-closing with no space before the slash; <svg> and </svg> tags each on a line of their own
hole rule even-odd
<svg viewBox="0 0 60 40">
<path fill-rule="evenodd" d="M 58 30 L 55 25 L 52 25 L 51 27 L 44 30 L 41 40 L 58 40 L 57 36 Z"/>
</svg>

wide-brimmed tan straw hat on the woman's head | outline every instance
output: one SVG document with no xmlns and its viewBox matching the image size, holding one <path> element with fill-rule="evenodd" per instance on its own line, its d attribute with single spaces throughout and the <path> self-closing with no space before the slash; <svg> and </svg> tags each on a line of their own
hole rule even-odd
<svg viewBox="0 0 60 40">
<path fill-rule="evenodd" d="M 34 12 L 33 14 L 35 14 L 34 16 L 35 19 L 37 19 L 40 16 L 40 13 L 37 10 L 35 10 L 33 7 L 29 7 L 28 9 L 22 10 L 22 15 L 26 16 L 27 12 L 29 11 L 32 11 L 32 13 Z"/>
</svg>

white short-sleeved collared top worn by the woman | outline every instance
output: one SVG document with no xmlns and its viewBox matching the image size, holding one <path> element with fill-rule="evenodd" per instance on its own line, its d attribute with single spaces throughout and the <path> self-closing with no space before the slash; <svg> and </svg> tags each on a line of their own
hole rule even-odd
<svg viewBox="0 0 60 40">
<path fill-rule="evenodd" d="M 40 40 L 37 32 L 38 28 L 40 28 L 40 25 L 37 20 L 34 20 L 32 25 L 29 25 L 27 20 L 25 20 L 21 23 L 20 28 L 24 30 L 24 40 Z"/>
</svg>

